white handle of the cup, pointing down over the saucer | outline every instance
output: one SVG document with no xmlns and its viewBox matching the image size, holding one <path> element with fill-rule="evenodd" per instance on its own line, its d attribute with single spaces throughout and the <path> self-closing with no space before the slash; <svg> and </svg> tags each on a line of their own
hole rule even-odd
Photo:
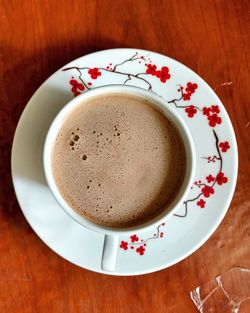
<svg viewBox="0 0 250 313">
<path fill-rule="evenodd" d="M 105 235 L 102 250 L 102 269 L 112 272 L 115 270 L 118 250 L 118 236 Z"/>
</svg>

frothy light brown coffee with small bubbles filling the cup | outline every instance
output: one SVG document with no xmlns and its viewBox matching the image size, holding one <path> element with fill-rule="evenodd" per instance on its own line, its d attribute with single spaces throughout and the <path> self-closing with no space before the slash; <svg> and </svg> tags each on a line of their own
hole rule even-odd
<svg viewBox="0 0 250 313">
<path fill-rule="evenodd" d="M 52 151 L 56 185 L 68 204 L 109 227 L 142 224 L 175 199 L 186 170 L 177 129 L 138 96 L 106 94 L 69 113 Z"/>
</svg>

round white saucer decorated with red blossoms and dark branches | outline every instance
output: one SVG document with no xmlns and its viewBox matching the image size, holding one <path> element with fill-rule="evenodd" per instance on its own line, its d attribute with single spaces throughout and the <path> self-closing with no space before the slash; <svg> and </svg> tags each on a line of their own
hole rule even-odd
<svg viewBox="0 0 250 313">
<path fill-rule="evenodd" d="M 178 214 L 139 238 L 120 238 L 116 269 L 108 274 L 150 273 L 183 260 L 212 235 L 236 184 L 237 145 L 230 119 L 213 90 L 186 66 L 134 49 L 100 51 L 65 65 L 36 91 L 20 118 L 12 149 L 14 187 L 29 224 L 52 250 L 105 273 L 103 236 L 80 226 L 59 207 L 45 181 L 42 152 L 51 121 L 74 94 L 109 84 L 138 86 L 166 99 L 186 121 L 196 145 L 196 181 Z"/>
</svg>

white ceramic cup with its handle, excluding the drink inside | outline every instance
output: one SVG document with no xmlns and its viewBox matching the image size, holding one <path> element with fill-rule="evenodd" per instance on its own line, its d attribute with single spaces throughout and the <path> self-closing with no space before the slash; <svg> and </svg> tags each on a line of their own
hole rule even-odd
<svg viewBox="0 0 250 313">
<path fill-rule="evenodd" d="M 149 220 L 144 224 L 129 228 L 111 228 L 97 225 L 78 214 L 72 207 L 70 207 L 70 205 L 64 200 L 64 198 L 60 194 L 60 191 L 57 188 L 52 174 L 51 151 L 57 134 L 64 121 L 67 119 L 69 113 L 85 100 L 88 100 L 95 96 L 105 96 L 106 94 L 111 93 L 126 93 L 128 95 L 136 95 L 137 97 L 147 99 L 153 106 L 157 107 L 179 130 L 179 133 L 185 145 L 187 157 L 187 166 L 184 181 L 171 205 L 168 206 L 166 210 L 163 211 L 159 216 L 152 218 L 152 220 Z M 155 228 L 163 221 L 166 221 L 167 218 L 172 216 L 180 208 L 194 180 L 196 165 L 195 148 L 191 134 L 185 122 L 178 115 L 176 110 L 172 108 L 171 105 L 169 105 L 164 99 L 149 91 L 138 87 L 124 85 L 109 85 L 97 87 L 79 95 L 78 97 L 71 100 L 68 104 L 66 104 L 63 109 L 57 114 L 49 128 L 44 144 L 43 162 L 48 186 L 61 208 L 83 227 L 87 227 L 105 236 L 101 261 L 101 267 L 105 271 L 113 271 L 115 269 L 119 236 L 124 236 L 132 233 L 138 234 L 148 231 L 151 228 Z"/>
</svg>

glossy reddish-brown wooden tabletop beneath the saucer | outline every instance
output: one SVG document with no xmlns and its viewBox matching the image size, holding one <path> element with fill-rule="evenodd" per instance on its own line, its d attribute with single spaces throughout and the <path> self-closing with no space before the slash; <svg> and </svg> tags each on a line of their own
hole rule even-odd
<svg viewBox="0 0 250 313">
<path fill-rule="evenodd" d="M 191 290 L 233 266 L 250 268 L 249 34 L 248 0 L 0 1 L 0 312 L 197 312 Z M 14 131 L 34 91 L 72 59 L 115 47 L 157 51 L 201 75 L 239 147 L 236 192 L 215 234 L 179 264 L 138 277 L 57 256 L 27 224 L 10 175 Z"/>
</svg>

